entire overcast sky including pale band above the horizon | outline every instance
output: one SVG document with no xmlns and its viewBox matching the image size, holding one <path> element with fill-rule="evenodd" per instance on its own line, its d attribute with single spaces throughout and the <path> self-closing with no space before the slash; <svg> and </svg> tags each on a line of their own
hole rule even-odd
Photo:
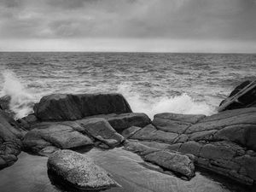
<svg viewBox="0 0 256 192">
<path fill-rule="evenodd" d="M 256 0 L 0 0 L 0 51 L 256 53 Z"/>
</svg>

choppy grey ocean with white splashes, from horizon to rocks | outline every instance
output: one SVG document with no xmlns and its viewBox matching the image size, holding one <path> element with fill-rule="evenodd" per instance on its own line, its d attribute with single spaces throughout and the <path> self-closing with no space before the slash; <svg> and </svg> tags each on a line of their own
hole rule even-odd
<svg viewBox="0 0 256 192">
<path fill-rule="evenodd" d="M 0 53 L 1 96 L 16 118 L 51 93 L 125 96 L 134 112 L 216 112 L 237 84 L 256 78 L 256 55 L 174 53 Z"/>
</svg>

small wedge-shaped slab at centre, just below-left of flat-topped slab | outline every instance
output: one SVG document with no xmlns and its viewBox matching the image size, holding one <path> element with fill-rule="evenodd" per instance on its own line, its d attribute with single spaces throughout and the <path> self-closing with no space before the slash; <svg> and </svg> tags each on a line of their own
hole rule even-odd
<svg viewBox="0 0 256 192">
<path fill-rule="evenodd" d="M 140 131 L 137 131 L 130 138 L 137 139 L 137 140 L 172 143 L 177 137 L 178 137 L 177 133 L 160 131 L 160 130 L 157 130 L 154 127 L 154 125 L 147 125 Z"/>
</svg>

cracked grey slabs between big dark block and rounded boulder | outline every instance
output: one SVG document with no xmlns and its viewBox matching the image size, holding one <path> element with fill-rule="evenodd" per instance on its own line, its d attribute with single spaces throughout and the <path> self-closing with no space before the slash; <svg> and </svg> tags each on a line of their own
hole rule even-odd
<svg viewBox="0 0 256 192">
<path fill-rule="evenodd" d="M 94 140 L 113 148 L 124 141 L 106 119 L 92 118 L 76 121 L 42 122 L 33 125 L 23 140 L 27 151 L 38 153 L 43 148 L 79 148 L 90 146 Z"/>
</svg>

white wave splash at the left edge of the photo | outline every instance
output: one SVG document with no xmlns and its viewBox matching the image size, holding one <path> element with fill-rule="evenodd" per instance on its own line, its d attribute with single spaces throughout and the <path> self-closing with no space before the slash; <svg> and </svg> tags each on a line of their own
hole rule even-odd
<svg viewBox="0 0 256 192">
<path fill-rule="evenodd" d="M 9 109 L 15 113 L 15 119 L 25 117 L 32 113 L 33 96 L 20 83 L 12 71 L 3 71 L 2 96 L 10 96 Z"/>
</svg>

